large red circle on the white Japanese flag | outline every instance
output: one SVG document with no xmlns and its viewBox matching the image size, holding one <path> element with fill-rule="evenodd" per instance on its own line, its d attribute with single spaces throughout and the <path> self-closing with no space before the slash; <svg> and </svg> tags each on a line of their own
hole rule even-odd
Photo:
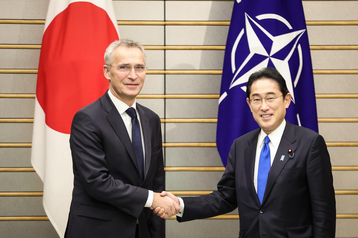
<svg viewBox="0 0 358 238">
<path fill-rule="evenodd" d="M 44 32 L 37 76 L 37 100 L 47 126 L 71 132 L 74 114 L 108 89 L 103 55 L 118 34 L 107 12 L 73 2 Z"/>
</svg>

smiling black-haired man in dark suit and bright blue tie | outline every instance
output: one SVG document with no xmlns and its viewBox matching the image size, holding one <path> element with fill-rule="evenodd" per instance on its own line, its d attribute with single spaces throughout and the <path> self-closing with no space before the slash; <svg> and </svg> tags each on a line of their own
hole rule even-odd
<svg viewBox="0 0 358 238">
<path fill-rule="evenodd" d="M 261 127 L 237 138 L 218 190 L 176 199 L 179 222 L 218 216 L 238 207 L 239 238 L 334 238 L 335 196 L 325 141 L 284 119 L 291 102 L 273 68 L 253 73 L 247 104 Z M 165 209 L 154 212 L 162 218 Z"/>
</svg>

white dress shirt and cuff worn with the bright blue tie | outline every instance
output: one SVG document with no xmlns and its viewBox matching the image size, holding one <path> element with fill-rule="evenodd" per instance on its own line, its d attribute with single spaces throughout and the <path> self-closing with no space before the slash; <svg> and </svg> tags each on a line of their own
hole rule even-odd
<svg viewBox="0 0 358 238">
<path fill-rule="evenodd" d="M 270 138 L 269 147 L 270 147 L 271 165 L 272 165 L 272 162 L 274 162 L 274 158 L 275 158 L 275 155 L 276 155 L 276 152 L 277 152 L 277 148 L 279 147 L 281 137 L 284 134 L 285 126 L 286 126 L 286 121 L 284 119 L 284 121 L 282 121 L 280 126 L 277 127 L 276 130 L 271 132 L 270 135 L 269 135 L 269 138 Z M 261 153 L 261 150 L 262 150 L 262 147 L 263 147 L 263 142 L 265 141 L 266 136 L 267 136 L 266 133 L 261 128 L 261 131 L 258 134 L 258 141 L 257 141 L 257 147 L 256 147 L 256 156 L 255 156 L 255 168 L 254 168 L 254 171 L 253 171 L 253 184 L 255 186 L 256 193 L 257 193 L 258 162 L 260 160 L 260 153 Z M 184 201 L 180 197 L 178 197 L 178 199 L 180 201 L 180 211 L 179 211 L 178 214 L 176 214 L 176 216 L 183 217 Z"/>
</svg>

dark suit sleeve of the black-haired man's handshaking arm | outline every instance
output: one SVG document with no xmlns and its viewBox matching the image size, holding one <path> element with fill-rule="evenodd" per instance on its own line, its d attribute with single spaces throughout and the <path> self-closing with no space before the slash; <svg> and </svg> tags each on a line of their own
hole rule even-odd
<svg viewBox="0 0 358 238">
<path fill-rule="evenodd" d="M 231 146 L 227 166 L 217 184 L 217 191 L 199 197 L 183 197 L 183 217 L 176 217 L 178 222 L 192 221 L 219 216 L 237 208 L 235 187 L 236 141 Z"/>
</svg>

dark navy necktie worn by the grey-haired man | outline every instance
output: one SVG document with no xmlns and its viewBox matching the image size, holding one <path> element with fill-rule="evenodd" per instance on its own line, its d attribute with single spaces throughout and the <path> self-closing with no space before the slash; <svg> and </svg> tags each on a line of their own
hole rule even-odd
<svg viewBox="0 0 358 238">
<path fill-rule="evenodd" d="M 132 145 L 135 153 L 135 157 L 138 163 L 140 182 L 144 181 L 144 155 L 142 146 L 142 136 L 140 133 L 140 125 L 137 116 L 137 112 L 133 107 L 126 110 L 126 113 L 132 118 Z"/>
</svg>

